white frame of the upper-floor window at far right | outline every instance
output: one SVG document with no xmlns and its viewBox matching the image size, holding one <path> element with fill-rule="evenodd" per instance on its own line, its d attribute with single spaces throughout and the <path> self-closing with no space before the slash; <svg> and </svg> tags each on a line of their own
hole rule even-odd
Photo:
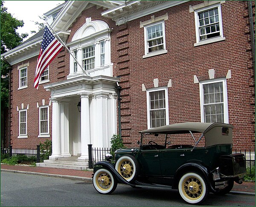
<svg viewBox="0 0 256 207">
<path fill-rule="evenodd" d="M 198 13 L 200 13 L 202 11 L 207 11 L 207 10 L 214 9 L 216 7 L 218 8 L 220 36 L 212 37 L 212 38 L 209 38 L 209 39 L 206 39 L 206 40 L 200 40 L 200 37 L 199 37 L 199 18 L 198 18 Z M 217 3 L 217 4 L 206 6 L 206 7 L 200 8 L 200 9 L 196 9 L 194 11 L 194 14 L 195 14 L 195 34 L 196 34 L 196 43 L 194 44 L 194 46 L 214 43 L 214 42 L 218 42 L 218 41 L 222 41 L 222 40 L 226 39 L 223 36 L 223 26 L 222 26 L 222 17 L 221 17 L 221 3 Z"/>
</svg>

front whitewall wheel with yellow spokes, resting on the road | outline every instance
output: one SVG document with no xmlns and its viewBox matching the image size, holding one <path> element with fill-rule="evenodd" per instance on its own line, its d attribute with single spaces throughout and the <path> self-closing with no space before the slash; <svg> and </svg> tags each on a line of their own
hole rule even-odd
<svg viewBox="0 0 256 207">
<path fill-rule="evenodd" d="M 93 175 L 93 186 L 102 194 L 110 194 L 116 190 L 117 181 L 109 170 L 99 169 Z"/>
</svg>

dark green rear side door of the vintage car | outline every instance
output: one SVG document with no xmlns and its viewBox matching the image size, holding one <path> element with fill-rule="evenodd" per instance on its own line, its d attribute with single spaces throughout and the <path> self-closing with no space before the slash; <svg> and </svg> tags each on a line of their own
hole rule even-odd
<svg viewBox="0 0 256 207">
<path fill-rule="evenodd" d="M 164 149 L 159 152 L 161 172 L 163 176 L 172 177 L 176 170 L 186 162 L 186 150 Z"/>
</svg>

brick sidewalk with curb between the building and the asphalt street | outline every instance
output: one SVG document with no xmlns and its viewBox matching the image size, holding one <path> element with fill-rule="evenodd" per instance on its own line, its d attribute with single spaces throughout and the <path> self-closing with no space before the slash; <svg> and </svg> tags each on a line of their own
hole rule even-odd
<svg viewBox="0 0 256 207">
<path fill-rule="evenodd" d="M 69 170 L 51 167 L 30 167 L 24 165 L 7 165 L 1 164 L 1 171 L 12 173 L 25 173 L 41 176 L 51 176 L 67 178 L 74 180 L 92 181 L 92 171 Z M 242 184 L 234 183 L 232 193 L 247 193 L 255 195 L 255 182 L 243 182 Z"/>
</svg>

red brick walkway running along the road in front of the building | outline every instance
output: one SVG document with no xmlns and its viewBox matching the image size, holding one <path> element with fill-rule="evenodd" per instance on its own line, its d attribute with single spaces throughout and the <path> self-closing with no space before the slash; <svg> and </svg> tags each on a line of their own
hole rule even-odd
<svg viewBox="0 0 256 207">
<path fill-rule="evenodd" d="M 92 178 L 92 171 L 84 171 L 84 170 L 69 170 L 69 169 L 59 169 L 59 168 L 51 168 L 51 167 L 30 167 L 23 165 L 7 165 L 1 164 L 1 170 L 14 170 L 14 171 L 22 171 L 29 173 L 44 173 L 49 175 L 60 175 L 60 176 L 75 176 L 81 178 Z M 238 192 L 250 192 L 255 193 L 255 182 L 243 182 L 242 184 L 234 183 L 233 191 Z"/>
</svg>

